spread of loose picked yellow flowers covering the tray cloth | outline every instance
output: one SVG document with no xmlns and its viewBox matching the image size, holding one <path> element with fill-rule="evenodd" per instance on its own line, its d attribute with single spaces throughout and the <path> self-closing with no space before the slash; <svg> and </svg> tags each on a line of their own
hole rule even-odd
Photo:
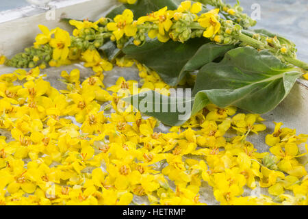
<svg viewBox="0 0 308 219">
<path fill-rule="evenodd" d="M 147 88 L 168 89 L 136 65 Z M 296 159 L 307 155 L 298 149 L 307 135 L 277 123 L 266 136 L 270 153 L 258 153 L 246 138 L 266 129 L 261 116 L 215 105 L 160 133 L 155 118 L 117 109 L 118 90 L 134 81 L 120 77 L 104 89 L 99 76 L 81 82 L 75 69 L 62 72 L 67 90 L 59 91 L 44 77 L 38 67 L 0 77 L 0 125 L 12 135 L 1 137 L 1 204 L 127 205 L 147 196 L 151 204 L 201 205 L 206 182 L 223 205 L 307 205 L 307 172 Z M 230 130 L 233 137 L 224 137 Z M 257 186 L 272 198 L 242 196 Z"/>
</svg>

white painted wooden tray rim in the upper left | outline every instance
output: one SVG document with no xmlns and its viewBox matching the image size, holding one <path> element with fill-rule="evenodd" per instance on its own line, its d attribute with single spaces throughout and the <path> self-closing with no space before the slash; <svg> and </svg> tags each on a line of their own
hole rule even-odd
<svg viewBox="0 0 308 219">
<path fill-rule="evenodd" d="M 116 0 L 62 0 L 51 1 L 48 8 L 27 6 L 18 10 L 0 13 L 0 54 L 10 57 L 31 46 L 36 34 L 40 33 L 38 25 L 49 28 L 70 29 L 60 22 L 61 18 L 91 20 L 98 19 L 116 5 Z M 55 17 L 53 18 L 53 14 Z"/>
</svg>

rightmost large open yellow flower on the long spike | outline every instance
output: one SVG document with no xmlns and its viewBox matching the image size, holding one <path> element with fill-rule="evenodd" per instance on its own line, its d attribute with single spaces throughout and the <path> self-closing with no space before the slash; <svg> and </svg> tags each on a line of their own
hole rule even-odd
<svg viewBox="0 0 308 219">
<path fill-rule="evenodd" d="M 201 14 L 200 18 L 198 18 L 198 23 L 200 23 L 201 27 L 206 28 L 203 32 L 204 37 L 211 38 L 219 31 L 220 23 L 218 21 L 218 12 L 219 9 L 216 8 L 205 14 Z"/>
</svg>

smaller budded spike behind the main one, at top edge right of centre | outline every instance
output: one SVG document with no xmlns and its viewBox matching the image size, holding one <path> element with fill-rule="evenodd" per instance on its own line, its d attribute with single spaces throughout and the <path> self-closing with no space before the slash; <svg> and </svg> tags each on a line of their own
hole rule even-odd
<svg viewBox="0 0 308 219">
<path fill-rule="evenodd" d="M 203 4 L 213 5 L 215 8 L 219 8 L 220 12 L 224 15 L 225 18 L 238 23 L 244 29 L 253 27 L 256 25 L 257 21 L 253 20 L 247 14 L 243 13 L 243 8 L 240 6 L 240 3 L 237 3 L 233 7 L 227 5 L 222 0 L 197 0 Z"/>
</svg>

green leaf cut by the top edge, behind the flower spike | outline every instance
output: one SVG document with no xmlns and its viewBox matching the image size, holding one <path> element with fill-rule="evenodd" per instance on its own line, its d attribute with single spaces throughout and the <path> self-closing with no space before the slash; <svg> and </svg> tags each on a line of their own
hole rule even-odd
<svg viewBox="0 0 308 219">
<path fill-rule="evenodd" d="M 181 0 L 138 0 L 133 5 L 126 3 L 114 8 L 107 14 L 107 17 L 114 18 L 117 14 L 122 14 L 125 9 L 129 9 L 133 12 L 135 18 L 139 18 L 166 6 L 168 10 L 176 10 L 180 3 Z"/>
</svg>

